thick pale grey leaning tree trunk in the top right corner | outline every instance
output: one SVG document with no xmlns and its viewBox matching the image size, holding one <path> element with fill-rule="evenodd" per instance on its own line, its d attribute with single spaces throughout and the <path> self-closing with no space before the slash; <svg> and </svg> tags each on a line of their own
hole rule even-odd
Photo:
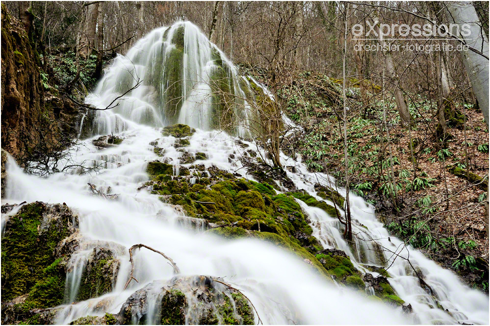
<svg viewBox="0 0 490 326">
<path fill-rule="evenodd" d="M 444 2 L 446 15 L 449 23 L 458 24 L 459 30 L 464 24 L 470 26 L 470 34 L 462 36 L 456 27 L 451 32 L 459 38 L 465 38 L 466 44 L 473 50 L 461 50 L 460 55 L 464 63 L 464 68 L 468 73 L 469 80 L 473 87 L 476 99 L 485 117 L 487 126 L 489 125 L 489 42 L 487 36 L 480 27 L 480 21 L 475 8 L 471 2 Z M 486 56 L 486 57 L 485 57 Z"/>
</svg>

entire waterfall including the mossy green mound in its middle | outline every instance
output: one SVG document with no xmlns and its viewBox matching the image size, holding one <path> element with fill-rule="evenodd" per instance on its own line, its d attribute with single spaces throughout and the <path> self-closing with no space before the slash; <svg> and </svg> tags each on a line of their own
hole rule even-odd
<svg viewBox="0 0 490 326">
<path fill-rule="evenodd" d="M 78 231 L 43 249 L 68 266 L 56 287 L 65 298 L 52 302 L 52 323 L 257 324 L 260 318 L 263 324 L 488 324 L 488 297 L 389 237 L 373 207 L 354 194 L 356 237 L 347 242 L 337 217 L 344 218 L 345 189 L 336 188 L 333 177 L 310 173 L 284 153 L 281 164 L 289 168 L 281 181 L 247 165 L 251 158 L 270 159 L 254 139 L 243 138 L 250 136 L 243 124 L 223 125 L 221 108 L 213 104 L 217 91 L 208 85 L 216 71 L 231 94 L 253 86 L 191 23 L 155 29 L 116 59 L 88 98 L 106 107 L 143 80 L 118 106 L 98 111 L 92 136 L 71 149 L 75 163 L 98 171 L 40 178 L 7 158 L 2 203 L 66 203 L 54 205 L 57 226 L 75 225 L 63 212 L 77 212 Z M 261 87 L 255 88 L 267 96 Z M 253 114 L 247 105 L 230 112 L 235 121 Z M 124 140 L 98 146 L 108 135 Z M 73 161 L 61 162 L 60 169 Z M 4 255 L 13 259 L 8 248 L 17 245 L 6 241 L 11 223 L 27 222 L 15 215 L 27 205 L 12 207 L 2 215 L 2 302 L 5 295 L 9 301 L 31 295 L 24 285 L 4 292 Z M 27 226 L 36 243 L 50 228 L 42 213 L 33 216 L 38 222 Z M 145 248 L 132 251 L 131 274 L 128 249 L 137 244 L 171 257 L 180 274 Z M 54 267 L 36 270 L 52 273 Z M 126 287 L 130 275 L 137 281 Z M 94 281 L 94 288 L 83 290 Z"/>
</svg>

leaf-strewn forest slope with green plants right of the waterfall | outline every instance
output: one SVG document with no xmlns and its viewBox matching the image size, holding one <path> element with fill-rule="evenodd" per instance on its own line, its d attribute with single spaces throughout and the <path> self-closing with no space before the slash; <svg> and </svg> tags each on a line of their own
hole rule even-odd
<svg viewBox="0 0 490 326">
<path fill-rule="evenodd" d="M 311 171 L 333 175 L 339 186 L 345 185 L 341 82 L 304 72 L 278 89 L 284 111 L 304 128 L 284 140 L 283 149 L 300 153 Z M 448 121 L 451 137 L 442 144 L 435 136 L 436 99 L 407 96 L 413 117 L 409 128 L 400 125 L 393 100 L 372 96 L 364 112 L 359 87 L 350 87 L 347 97 L 351 190 L 377 208 L 380 221 L 393 235 L 488 293 L 489 216 L 483 202 L 489 131 L 480 109 L 453 103 L 465 112 L 465 119 L 460 115 L 459 121 Z M 383 132 L 384 109 L 387 131 Z M 451 173 L 454 167 L 463 172 L 468 168 L 486 179 L 475 185 Z"/>
</svg>

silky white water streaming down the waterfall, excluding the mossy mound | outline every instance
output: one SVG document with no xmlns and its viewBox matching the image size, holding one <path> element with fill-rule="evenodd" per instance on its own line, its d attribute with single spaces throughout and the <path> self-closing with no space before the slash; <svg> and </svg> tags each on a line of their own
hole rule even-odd
<svg viewBox="0 0 490 326">
<path fill-rule="evenodd" d="M 113 109 L 97 111 L 90 126 L 93 136 L 84 141 L 85 146 L 71 149 L 75 162 L 81 165 L 92 162 L 94 167 L 102 165 L 100 173 L 79 174 L 72 170 L 69 174 L 39 178 L 24 174 L 9 158 L 7 191 L 2 202 L 66 202 L 79 217 L 82 245 L 72 256 L 72 269 L 66 283 L 69 301 L 61 306 L 56 323 L 67 324 L 87 315 L 102 316 L 105 312 L 117 313 L 135 291 L 145 286 L 149 286 L 146 289 L 150 306 L 146 322 L 155 323 L 158 282 L 165 283 L 174 274 L 172 267 L 157 253 L 141 250 L 135 254 L 134 277 L 138 282 L 133 281 L 125 290 L 130 271 L 128 249 L 140 243 L 172 257 L 182 276 L 224 277 L 253 302 L 264 324 L 489 323 L 488 297 L 464 286 L 456 275 L 422 253 L 404 247 L 399 239 L 388 239 L 387 230 L 377 221 L 373 208 L 353 194 L 350 195 L 351 210 L 357 234 L 353 245 L 343 239 L 338 220 L 319 208 L 298 202 L 309 216 L 313 235 L 324 248 L 345 251 L 357 269 L 374 276 L 377 273 L 371 272 L 367 265 L 391 266 L 388 281 L 399 297 L 412 305 L 412 314 L 405 315 L 401 309 L 335 286 L 314 273 L 297 256 L 266 242 L 225 241 L 213 236 L 206 232 L 206 225 L 199 219 L 186 217 L 145 189 L 138 190 L 148 180 L 146 166 L 150 161 L 171 162 L 176 175 L 179 167 L 189 168 L 190 164 L 181 164 L 182 153 L 172 146 L 176 139 L 162 137 L 161 127 L 173 123 L 197 129 L 189 138 L 186 150 L 191 154 L 205 152 L 207 157 L 196 163 L 206 168 L 214 164 L 222 170 L 251 178 L 240 161 L 243 149 L 236 145 L 236 138 L 212 130 L 220 127 L 216 117 L 222 118 L 223 113 L 213 86 L 217 71 L 224 73 L 221 76 L 226 85 L 221 87 L 232 90 L 240 99 L 240 105 L 233 106 L 230 117 L 235 125 L 228 130 L 245 136 L 248 129 L 239 121 L 251 119 L 255 114 L 254 105 L 247 103 L 247 99 L 254 100 L 247 96 L 251 94 L 249 80 L 238 75 L 232 63 L 195 25 L 177 23 L 154 30 L 139 40 L 126 56 L 118 56 L 96 91 L 87 98 L 87 102 L 99 108 L 118 104 Z M 111 103 L 138 80 L 140 86 Z M 101 150 L 92 143 L 101 134 L 113 134 L 124 141 Z M 256 147 L 251 142 L 243 142 Z M 155 146 L 165 149 L 164 154 L 158 156 Z M 232 162 L 230 154 L 235 157 Z M 261 154 L 266 157 L 263 150 Z M 304 189 L 317 199 L 320 197 L 314 184 L 318 180 L 326 185 L 335 184 L 330 176 L 309 173 L 299 160 L 283 153 L 281 163 L 294 166 L 296 172 L 287 172 L 287 176 L 298 189 Z M 110 187 L 113 194 L 118 194 L 117 199 L 93 196 L 87 183 L 99 189 Z M 345 191 L 339 192 L 345 195 Z M 10 212 L 14 213 L 15 210 Z M 2 217 L 2 228 L 5 218 L 8 217 Z M 97 243 L 113 249 L 121 262 L 112 291 L 70 304 L 77 296 L 81 270 Z M 405 259 L 408 257 L 433 293 L 420 286 Z M 372 288 L 366 291 L 372 294 Z M 255 316 L 256 323 L 258 316 Z M 191 322 L 192 318 L 189 312 L 186 321 Z"/>
</svg>

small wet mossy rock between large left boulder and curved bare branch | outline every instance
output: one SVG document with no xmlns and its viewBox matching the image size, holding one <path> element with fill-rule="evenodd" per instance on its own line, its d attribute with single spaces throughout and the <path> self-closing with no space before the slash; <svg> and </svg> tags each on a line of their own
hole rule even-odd
<svg viewBox="0 0 490 326">
<path fill-rule="evenodd" d="M 95 248 L 81 276 L 76 301 L 102 296 L 112 291 L 119 272 L 120 262 L 114 251 Z"/>
</svg>

